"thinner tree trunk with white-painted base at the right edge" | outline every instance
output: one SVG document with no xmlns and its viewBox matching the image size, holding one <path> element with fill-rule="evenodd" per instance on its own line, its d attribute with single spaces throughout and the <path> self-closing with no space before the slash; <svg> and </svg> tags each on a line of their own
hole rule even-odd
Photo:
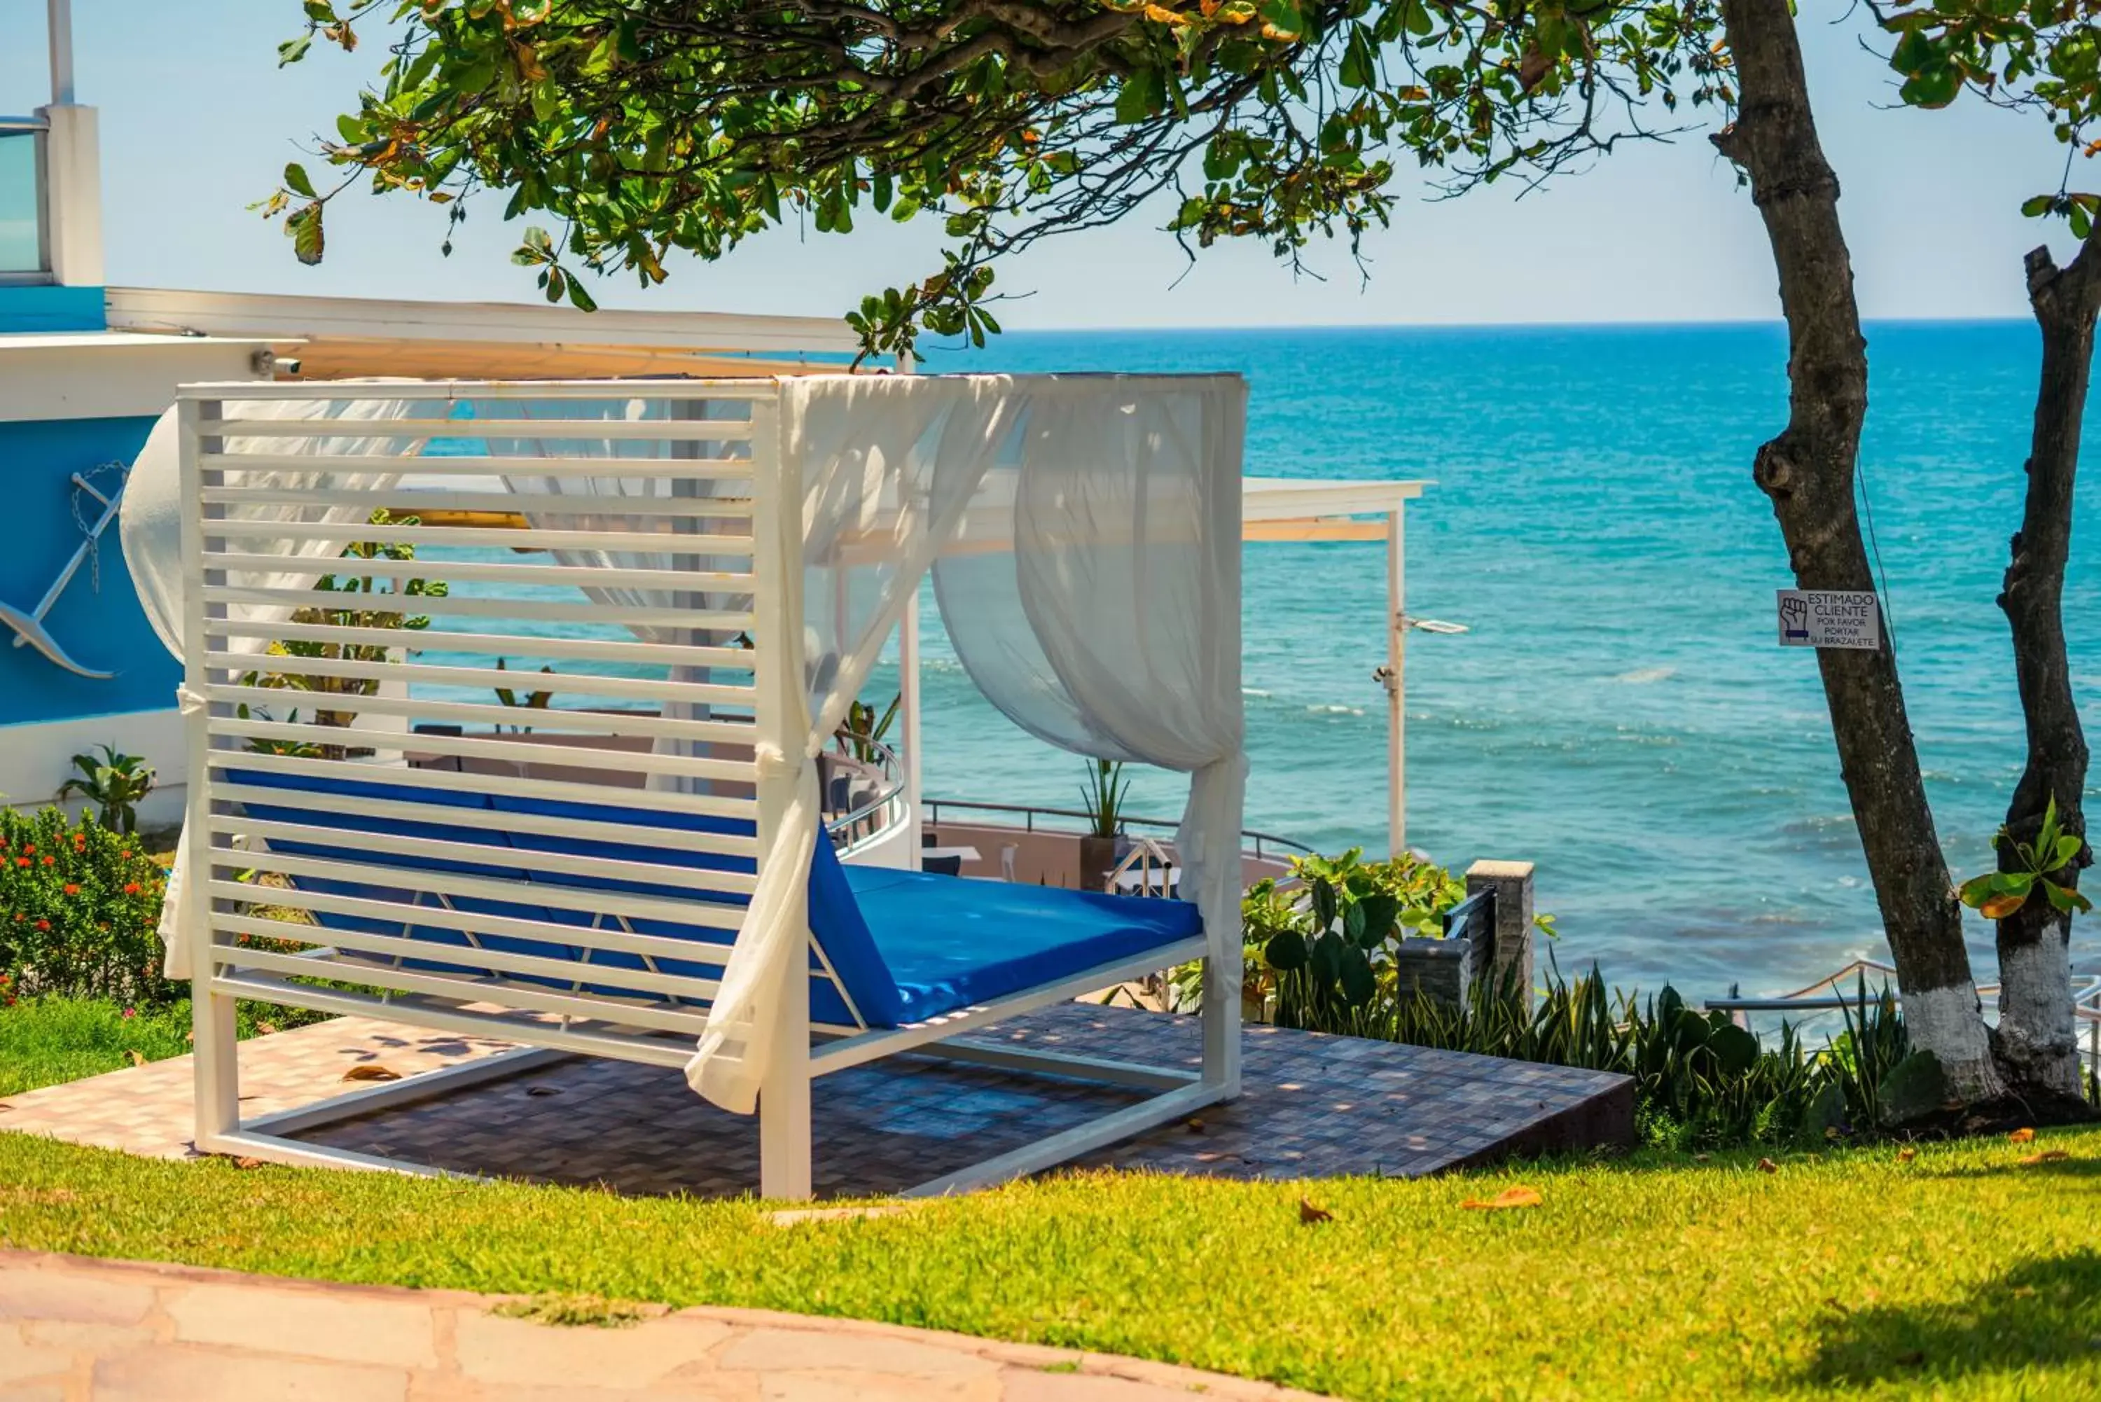
<svg viewBox="0 0 2101 1402">
<path fill-rule="evenodd" d="M 2006 832 L 2036 841 L 2042 813 L 2057 801 L 2057 822 L 2084 837 L 2080 795 L 2086 788 L 2086 736 L 2072 696 L 2065 658 L 2063 586 L 2072 553 L 2072 483 L 2080 467 L 2080 422 L 2101 313 L 2101 231 L 2063 269 L 2048 248 L 2027 254 L 2027 303 L 2042 330 L 2042 376 L 2036 383 L 2036 433 L 2027 454 L 2027 502 L 2013 538 L 1998 605 L 2013 628 L 2013 673 L 2027 725 L 2027 767 L 2006 805 Z M 2078 885 L 2093 862 L 2088 847 L 2059 885 Z M 2011 843 L 2000 866 L 2017 870 Z M 2072 916 L 2038 891 L 1998 923 L 2000 1015 L 1996 1051 L 2009 1089 L 2046 1118 L 2082 1114 L 2078 1030 L 2072 1019 Z M 2055 1112 L 2055 1114 L 2053 1114 Z"/>
</svg>

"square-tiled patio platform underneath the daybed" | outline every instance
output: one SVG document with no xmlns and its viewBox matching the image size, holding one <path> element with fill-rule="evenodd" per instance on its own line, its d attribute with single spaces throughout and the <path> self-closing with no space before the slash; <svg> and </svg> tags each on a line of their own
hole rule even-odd
<svg viewBox="0 0 2101 1402">
<path fill-rule="evenodd" d="M 1193 1017 L 1067 1003 L 977 1034 L 1156 1066 L 1200 1064 Z M 500 1051 L 487 1038 L 336 1019 L 242 1045 L 242 1112 L 313 1104 L 345 1072 L 403 1076 Z M 0 1101 L 0 1129 L 134 1154 L 191 1154 L 189 1059 Z M 1082 1164 L 1214 1177 L 1420 1177 L 1504 1154 L 1620 1143 L 1624 1076 L 1282 1028 L 1246 1030 L 1246 1093 Z M 819 1196 L 889 1194 L 1128 1104 L 1137 1091 L 887 1057 L 815 1091 Z M 338 1120 L 309 1143 L 418 1164 L 603 1183 L 630 1194 L 733 1196 L 758 1183 L 756 1122 L 695 1097 L 666 1068 L 567 1059 L 418 1104 Z"/>
</svg>

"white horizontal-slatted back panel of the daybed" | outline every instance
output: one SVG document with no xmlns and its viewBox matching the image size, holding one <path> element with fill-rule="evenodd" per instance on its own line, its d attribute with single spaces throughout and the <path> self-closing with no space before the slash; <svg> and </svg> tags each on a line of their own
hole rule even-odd
<svg viewBox="0 0 2101 1402">
<path fill-rule="evenodd" d="M 777 820 L 782 797 L 761 792 L 752 746 L 800 746 L 782 734 L 786 687 L 800 677 L 769 643 L 777 574 L 800 568 L 767 544 L 773 513 L 792 507 L 775 490 L 775 387 L 216 393 L 227 401 L 185 391 L 183 458 L 187 685 L 208 702 L 191 731 L 193 822 L 210 837 L 214 986 L 338 1011 L 378 1001 L 431 1026 L 513 1017 L 532 1030 L 525 1040 L 553 1045 L 546 1030 L 561 1028 L 666 1059 L 662 1038 L 700 1032 L 714 994 L 706 967 L 727 956 Z M 473 416 L 347 420 L 321 408 L 393 395 L 471 401 Z M 244 408 L 258 399 L 298 408 L 263 418 Z M 649 412 L 605 416 L 630 399 L 649 399 Z M 296 450 L 313 439 L 403 456 Z M 321 471 L 399 471 L 414 486 L 263 479 Z M 626 479 L 632 494 L 546 490 L 582 477 Z M 521 513 L 527 528 L 361 523 L 418 504 Z M 300 519 L 277 519 L 286 509 Z M 338 555 L 359 542 L 414 559 Z M 317 553 L 288 561 L 292 544 Z M 273 578 L 294 570 L 338 589 Z M 408 580 L 450 595 L 403 597 Z M 256 605 L 292 616 L 229 618 Z M 431 622 L 399 628 L 370 614 Z M 550 696 L 544 708 L 508 706 L 498 687 Z M 502 811 L 521 803 L 534 811 Z M 712 830 L 607 822 L 574 805 Z"/>
</svg>

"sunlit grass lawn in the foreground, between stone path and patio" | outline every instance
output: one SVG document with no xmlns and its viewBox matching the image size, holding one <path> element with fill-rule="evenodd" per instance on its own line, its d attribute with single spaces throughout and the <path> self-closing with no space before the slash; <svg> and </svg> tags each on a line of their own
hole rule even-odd
<svg viewBox="0 0 2101 1402">
<path fill-rule="evenodd" d="M 2067 1158 L 2023 1164 L 2040 1150 Z M 1460 1207 L 1509 1185 L 1544 1202 Z M 1332 1221 L 1301 1221 L 1301 1198 Z M 855 1221 L 0 1133 L 0 1244 L 843 1314 L 1345 1398 L 2101 1396 L 2101 1131 L 1403 1181 L 1078 1175 Z"/>
</svg>

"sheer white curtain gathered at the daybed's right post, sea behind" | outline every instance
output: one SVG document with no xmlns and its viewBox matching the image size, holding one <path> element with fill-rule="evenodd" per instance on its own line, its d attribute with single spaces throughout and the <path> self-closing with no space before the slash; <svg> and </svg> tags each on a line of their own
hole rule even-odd
<svg viewBox="0 0 2101 1402">
<path fill-rule="evenodd" d="M 956 658 L 1011 721 L 1191 776 L 1181 891 L 1221 958 L 1240 958 L 1244 431 L 1240 378 L 1057 380 L 985 494 L 1011 530 L 973 521 L 981 544 L 933 568 Z"/>
</svg>

